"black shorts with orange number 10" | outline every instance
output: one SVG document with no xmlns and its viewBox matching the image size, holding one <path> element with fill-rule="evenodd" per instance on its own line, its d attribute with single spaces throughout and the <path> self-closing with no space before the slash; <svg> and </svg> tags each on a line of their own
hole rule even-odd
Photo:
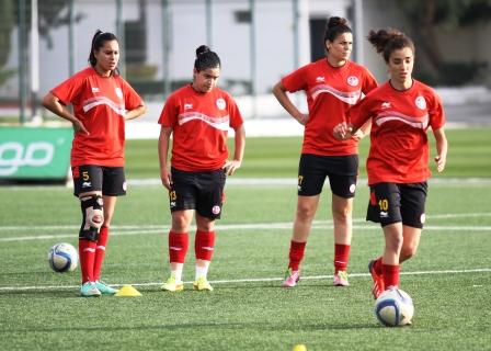
<svg viewBox="0 0 491 351">
<path fill-rule="evenodd" d="M 370 185 L 366 219 L 386 225 L 402 222 L 413 228 L 423 228 L 427 183 L 376 183 Z"/>
</svg>

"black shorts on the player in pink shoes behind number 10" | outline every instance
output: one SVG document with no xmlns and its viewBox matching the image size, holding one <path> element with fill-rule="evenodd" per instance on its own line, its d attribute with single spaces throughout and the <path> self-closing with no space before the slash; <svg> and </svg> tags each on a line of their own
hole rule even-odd
<svg viewBox="0 0 491 351">
<path fill-rule="evenodd" d="M 355 195 L 358 156 L 319 156 L 302 154 L 298 167 L 298 195 L 315 196 L 322 192 L 326 177 L 333 194 L 351 199 Z"/>
</svg>

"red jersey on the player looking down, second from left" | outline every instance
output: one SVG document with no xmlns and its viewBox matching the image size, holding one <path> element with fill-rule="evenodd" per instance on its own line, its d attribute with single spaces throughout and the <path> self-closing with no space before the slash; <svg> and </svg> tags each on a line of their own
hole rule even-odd
<svg viewBox="0 0 491 351">
<path fill-rule="evenodd" d="M 169 97 L 159 124 L 172 127 L 172 167 L 196 172 L 225 166 L 228 128 L 240 127 L 243 120 L 226 91 L 201 93 L 189 84 Z"/>
</svg>

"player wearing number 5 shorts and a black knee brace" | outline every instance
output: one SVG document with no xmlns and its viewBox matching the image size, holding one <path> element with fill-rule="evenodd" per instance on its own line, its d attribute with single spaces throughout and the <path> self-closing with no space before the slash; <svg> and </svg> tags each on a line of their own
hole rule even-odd
<svg viewBox="0 0 491 351">
<path fill-rule="evenodd" d="M 112 33 L 96 31 L 90 67 L 53 89 L 43 105 L 73 124 L 71 172 L 82 207 L 79 254 L 82 296 L 113 295 L 101 281 L 101 268 L 116 196 L 126 194 L 125 122 L 145 113 L 141 98 L 119 76 L 119 45 Z M 73 113 L 66 105 L 73 106 Z"/>
</svg>

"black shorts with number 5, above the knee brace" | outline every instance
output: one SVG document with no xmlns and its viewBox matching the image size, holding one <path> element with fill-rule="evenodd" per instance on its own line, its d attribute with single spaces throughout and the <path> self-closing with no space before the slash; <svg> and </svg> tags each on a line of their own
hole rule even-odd
<svg viewBox="0 0 491 351">
<path fill-rule="evenodd" d="M 126 195 L 124 167 L 76 166 L 71 168 L 71 174 L 76 196 L 90 191 L 102 191 L 107 196 Z"/>
</svg>

